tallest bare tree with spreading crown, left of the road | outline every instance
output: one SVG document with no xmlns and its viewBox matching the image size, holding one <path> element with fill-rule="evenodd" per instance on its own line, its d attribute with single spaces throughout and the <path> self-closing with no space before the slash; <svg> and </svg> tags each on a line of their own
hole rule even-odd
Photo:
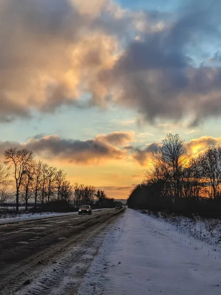
<svg viewBox="0 0 221 295">
<path fill-rule="evenodd" d="M 34 159 L 34 153 L 27 148 L 8 148 L 4 152 L 5 164 L 13 169 L 16 184 L 16 212 L 19 211 L 19 192 L 28 165 Z"/>
</svg>

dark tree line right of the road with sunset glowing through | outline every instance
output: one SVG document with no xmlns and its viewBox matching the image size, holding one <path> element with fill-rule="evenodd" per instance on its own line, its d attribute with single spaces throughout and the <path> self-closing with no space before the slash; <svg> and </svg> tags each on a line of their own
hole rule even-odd
<svg viewBox="0 0 221 295">
<path fill-rule="evenodd" d="M 221 215 L 221 146 L 188 156 L 184 139 L 166 135 L 152 166 L 128 198 L 129 207 Z"/>
</svg>

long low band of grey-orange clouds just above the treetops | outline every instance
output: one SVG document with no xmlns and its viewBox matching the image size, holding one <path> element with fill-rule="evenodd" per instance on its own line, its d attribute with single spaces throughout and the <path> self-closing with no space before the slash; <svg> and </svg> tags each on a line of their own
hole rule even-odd
<svg viewBox="0 0 221 295">
<path fill-rule="evenodd" d="M 117 132 L 116 132 L 117 133 Z M 119 132 L 120 133 L 120 132 Z M 78 165 L 97 165 L 107 161 L 130 159 L 132 157 L 140 166 L 148 166 L 151 163 L 152 151 L 162 146 L 161 142 L 151 143 L 145 147 L 134 147 L 127 145 L 118 148 L 117 145 L 124 143 L 124 137 L 114 138 L 114 133 L 107 134 L 101 140 L 95 137 L 91 140 L 63 139 L 58 135 L 37 134 L 26 143 L 1 141 L 0 158 L 7 148 L 28 148 L 45 160 L 60 160 Z M 109 137 L 110 135 L 110 137 Z M 202 154 L 206 148 L 221 144 L 221 137 L 202 136 L 185 143 L 188 156 Z M 133 175 L 138 178 L 140 175 Z"/>
</svg>

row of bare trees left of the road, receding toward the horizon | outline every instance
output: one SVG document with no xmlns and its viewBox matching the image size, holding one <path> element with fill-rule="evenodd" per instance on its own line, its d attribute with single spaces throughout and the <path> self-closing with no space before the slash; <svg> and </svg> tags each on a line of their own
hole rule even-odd
<svg viewBox="0 0 221 295">
<path fill-rule="evenodd" d="M 39 204 L 47 207 L 52 202 L 78 208 L 83 204 L 92 205 L 97 200 L 97 207 L 114 206 L 114 199 L 109 199 L 104 191 L 77 182 L 72 185 L 63 169 L 36 160 L 31 150 L 8 148 L 4 159 L 0 162 L 0 203 L 15 202 L 16 212 L 20 202 L 25 204 L 26 211 L 30 202 L 34 203 L 35 210 Z"/>
</svg>

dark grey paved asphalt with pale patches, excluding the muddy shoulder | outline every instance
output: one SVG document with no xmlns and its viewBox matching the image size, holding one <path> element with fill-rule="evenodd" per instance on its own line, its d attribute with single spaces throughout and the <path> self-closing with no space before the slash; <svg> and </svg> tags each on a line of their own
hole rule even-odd
<svg viewBox="0 0 221 295">
<path fill-rule="evenodd" d="M 0 226 L 0 272 L 51 245 L 90 226 L 113 209 L 93 211 L 91 215 L 68 215 Z"/>
</svg>

